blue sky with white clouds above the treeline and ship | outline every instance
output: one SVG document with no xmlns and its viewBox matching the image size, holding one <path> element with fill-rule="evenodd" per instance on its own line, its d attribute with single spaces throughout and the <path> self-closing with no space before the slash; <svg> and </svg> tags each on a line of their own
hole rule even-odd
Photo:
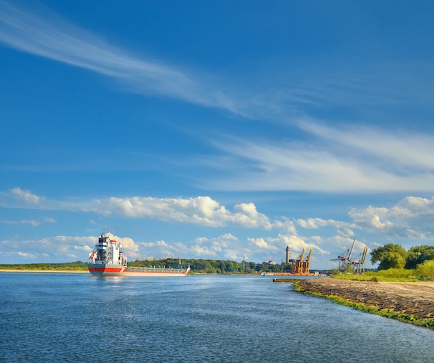
<svg viewBox="0 0 434 363">
<path fill-rule="evenodd" d="M 0 0 L 0 263 L 432 245 L 433 13 Z"/>
</svg>

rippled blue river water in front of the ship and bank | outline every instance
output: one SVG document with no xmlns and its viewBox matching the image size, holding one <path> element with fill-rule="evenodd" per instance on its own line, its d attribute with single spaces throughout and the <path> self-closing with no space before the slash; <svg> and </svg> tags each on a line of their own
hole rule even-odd
<svg viewBox="0 0 434 363">
<path fill-rule="evenodd" d="M 434 362 L 434 332 L 269 276 L 0 273 L 0 362 Z"/>
</svg>

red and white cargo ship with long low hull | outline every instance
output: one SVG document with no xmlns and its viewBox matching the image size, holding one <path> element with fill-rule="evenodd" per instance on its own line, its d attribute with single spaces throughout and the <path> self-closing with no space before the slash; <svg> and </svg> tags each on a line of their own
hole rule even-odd
<svg viewBox="0 0 434 363">
<path fill-rule="evenodd" d="M 107 233 L 102 233 L 98 244 L 89 254 L 87 268 L 94 276 L 187 276 L 190 266 L 173 267 L 128 267 L 127 256 L 117 240 L 111 240 Z"/>
</svg>

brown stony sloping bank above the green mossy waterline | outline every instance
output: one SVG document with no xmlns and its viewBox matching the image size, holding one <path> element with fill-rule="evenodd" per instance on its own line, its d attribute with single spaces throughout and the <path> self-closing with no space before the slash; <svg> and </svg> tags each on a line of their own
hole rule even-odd
<svg viewBox="0 0 434 363">
<path fill-rule="evenodd" d="M 419 318 L 434 318 L 434 282 L 376 283 L 336 278 L 309 278 L 300 280 L 299 285 L 304 290 L 340 296 L 366 306 L 392 309 Z"/>
</svg>

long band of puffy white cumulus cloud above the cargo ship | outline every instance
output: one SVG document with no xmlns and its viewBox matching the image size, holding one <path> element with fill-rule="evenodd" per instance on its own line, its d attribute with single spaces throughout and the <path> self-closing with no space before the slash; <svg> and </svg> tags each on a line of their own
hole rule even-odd
<svg viewBox="0 0 434 363">
<path fill-rule="evenodd" d="M 67 210 L 94 212 L 103 215 L 121 215 L 128 218 L 154 218 L 165 222 L 182 222 L 200 224 L 207 227 L 225 227 L 233 225 L 249 229 L 272 229 L 273 224 L 263 213 L 259 213 L 253 203 L 240 203 L 234 206 L 234 211 L 229 211 L 216 200 L 208 196 L 185 198 L 154 198 L 154 197 L 110 197 L 102 200 L 80 202 L 69 200 L 62 202 L 46 200 L 14 188 L 12 195 L 26 203 L 31 203 L 33 208 L 45 210 Z M 4 206 L 12 206 L 12 203 Z M 53 223 L 53 218 L 45 218 L 46 222 Z M 3 223 L 6 223 L 4 221 Z M 37 222 L 35 222 L 37 223 Z M 91 223 L 95 223 L 91 220 Z M 291 223 L 276 221 L 279 228 L 290 229 Z"/>
</svg>

